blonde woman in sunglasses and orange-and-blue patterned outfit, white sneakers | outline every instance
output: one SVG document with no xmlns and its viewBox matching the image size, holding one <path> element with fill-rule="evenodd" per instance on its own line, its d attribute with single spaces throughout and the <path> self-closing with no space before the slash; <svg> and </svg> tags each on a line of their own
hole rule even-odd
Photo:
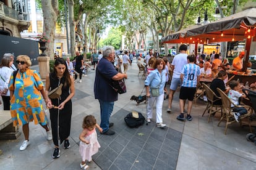
<svg viewBox="0 0 256 170">
<path fill-rule="evenodd" d="M 48 128 L 48 120 L 43 110 L 43 98 L 48 102 L 48 97 L 44 90 L 40 75 L 35 70 L 30 70 L 31 60 L 27 55 L 19 55 L 16 60 L 17 75 L 14 79 L 12 73 L 9 90 L 11 97 L 11 116 L 14 126 L 22 125 L 25 141 L 20 146 L 20 150 L 25 150 L 30 141 L 28 140 L 30 121 L 40 124 L 47 132 L 47 139 L 51 140 L 51 131 Z"/>
</svg>

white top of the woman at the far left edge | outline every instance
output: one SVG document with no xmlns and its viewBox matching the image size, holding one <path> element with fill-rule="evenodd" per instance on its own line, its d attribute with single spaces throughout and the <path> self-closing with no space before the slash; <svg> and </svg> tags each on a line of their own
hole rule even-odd
<svg viewBox="0 0 256 170">
<path fill-rule="evenodd" d="M 9 67 L 2 67 L 0 68 L 0 89 L 3 91 L 4 89 L 8 89 L 9 81 L 12 75 L 12 68 Z M 3 80 L 4 79 L 4 80 Z M 10 91 L 8 90 L 6 96 L 10 96 Z"/>
</svg>

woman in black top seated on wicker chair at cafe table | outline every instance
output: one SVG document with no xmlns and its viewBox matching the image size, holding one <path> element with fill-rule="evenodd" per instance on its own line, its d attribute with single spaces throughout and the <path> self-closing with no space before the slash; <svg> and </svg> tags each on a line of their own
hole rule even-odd
<svg viewBox="0 0 256 170">
<path fill-rule="evenodd" d="M 210 84 L 210 89 L 218 96 L 220 96 L 219 92 L 217 91 L 217 88 L 221 89 L 221 91 L 223 91 L 224 93 L 228 93 L 229 88 L 226 89 L 225 84 L 224 84 L 224 79 L 226 79 L 228 77 L 228 74 L 226 73 L 226 71 L 221 70 L 218 72 L 218 77 L 213 79 L 213 81 Z M 216 100 L 213 104 L 215 105 L 221 105 L 221 99 L 220 100 Z"/>
</svg>

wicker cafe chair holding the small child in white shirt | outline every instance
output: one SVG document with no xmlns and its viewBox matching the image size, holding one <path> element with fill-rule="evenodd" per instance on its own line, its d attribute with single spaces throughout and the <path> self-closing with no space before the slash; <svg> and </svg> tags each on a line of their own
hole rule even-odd
<svg viewBox="0 0 256 170">
<path fill-rule="evenodd" d="M 217 88 L 217 91 L 220 93 L 221 101 L 223 104 L 223 115 L 221 116 L 218 126 L 220 125 L 221 121 L 223 121 L 223 119 L 226 119 L 226 127 L 224 131 L 224 134 L 226 134 L 228 125 L 236 122 L 236 119 L 234 118 L 234 115 L 233 115 L 234 114 L 233 107 L 231 107 L 231 104 L 233 104 L 234 107 L 244 107 L 247 110 L 246 114 L 240 116 L 239 122 L 241 126 L 242 126 L 242 119 L 249 118 L 249 116 L 252 115 L 252 107 L 248 105 L 236 105 L 228 98 L 228 95 L 226 95 L 223 91 L 221 91 L 221 89 Z M 250 132 L 252 132 L 252 127 L 250 126 L 250 120 L 247 121 L 247 123 L 250 127 Z"/>
</svg>

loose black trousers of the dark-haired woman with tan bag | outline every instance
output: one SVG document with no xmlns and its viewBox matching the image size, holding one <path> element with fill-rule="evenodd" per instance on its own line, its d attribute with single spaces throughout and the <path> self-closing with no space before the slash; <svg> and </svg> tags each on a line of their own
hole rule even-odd
<svg viewBox="0 0 256 170">
<path fill-rule="evenodd" d="M 58 110 L 56 108 L 50 109 L 51 131 L 53 134 L 54 145 L 59 146 L 58 139 L 60 139 L 60 144 L 62 144 L 62 142 L 65 139 L 67 139 L 67 137 L 69 137 L 70 126 L 71 126 L 71 115 L 72 115 L 72 111 L 65 111 L 65 108 L 62 110 Z M 58 117 L 59 117 L 59 124 L 58 124 Z M 59 137 L 58 137 L 58 128 L 59 128 Z"/>
</svg>

